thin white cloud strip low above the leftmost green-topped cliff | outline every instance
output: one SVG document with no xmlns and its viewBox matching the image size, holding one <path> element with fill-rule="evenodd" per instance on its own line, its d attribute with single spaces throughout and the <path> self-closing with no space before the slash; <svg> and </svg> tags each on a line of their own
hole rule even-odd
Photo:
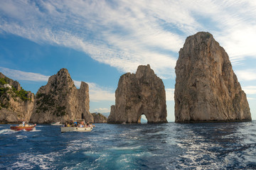
<svg viewBox="0 0 256 170">
<path fill-rule="evenodd" d="M 0 71 L 6 77 L 14 80 L 28 80 L 28 81 L 48 81 L 49 76 L 33 72 L 22 72 L 16 69 L 8 69 L 0 67 Z"/>
</svg>

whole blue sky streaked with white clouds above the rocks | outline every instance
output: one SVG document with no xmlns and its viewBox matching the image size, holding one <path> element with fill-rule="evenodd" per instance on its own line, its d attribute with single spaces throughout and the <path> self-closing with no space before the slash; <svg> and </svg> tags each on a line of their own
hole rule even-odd
<svg viewBox="0 0 256 170">
<path fill-rule="evenodd" d="M 90 86 L 90 112 L 110 112 L 119 77 L 150 64 L 174 121 L 178 51 L 198 31 L 228 52 L 256 119 L 256 1 L 0 0 L 0 72 L 36 91 L 61 68 Z"/>
</svg>

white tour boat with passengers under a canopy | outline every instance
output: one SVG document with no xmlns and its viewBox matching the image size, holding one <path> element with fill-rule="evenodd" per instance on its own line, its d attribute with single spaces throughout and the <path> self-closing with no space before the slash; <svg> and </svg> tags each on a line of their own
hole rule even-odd
<svg viewBox="0 0 256 170">
<path fill-rule="evenodd" d="M 85 123 L 85 120 L 84 119 L 74 119 L 74 120 L 71 120 L 73 121 L 74 123 L 78 123 L 78 121 L 80 122 L 83 122 Z M 63 126 L 60 128 L 60 131 L 61 132 L 90 132 L 92 131 L 93 127 L 95 127 L 95 125 L 83 125 L 83 127 L 75 127 L 73 125 L 71 126 Z"/>
</svg>

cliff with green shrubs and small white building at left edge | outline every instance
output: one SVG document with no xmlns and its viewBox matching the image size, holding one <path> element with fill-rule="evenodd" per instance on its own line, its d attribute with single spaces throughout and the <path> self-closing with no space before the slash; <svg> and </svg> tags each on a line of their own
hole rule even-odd
<svg viewBox="0 0 256 170">
<path fill-rule="evenodd" d="M 23 90 L 18 81 L 0 73 L 0 122 L 16 123 L 18 119 L 29 120 L 33 101 L 34 94 L 31 91 Z"/>
</svg>

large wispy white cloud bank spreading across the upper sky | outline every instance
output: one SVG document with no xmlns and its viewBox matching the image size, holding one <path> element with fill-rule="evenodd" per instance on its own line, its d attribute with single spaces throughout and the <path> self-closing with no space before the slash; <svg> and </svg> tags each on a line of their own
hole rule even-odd
<svg viewBox="0 0 256 170">
<path fill-rule="evenodd" d="M 250 11 L 250 12 L 248 12 Z M 0 33 L 70 47 L 122 72 L 151 64 L 174 77 L 188 35 L 215 35 L 233 64 L 256 56 L 252 1 L 1 1 Z"/>
</svg>

